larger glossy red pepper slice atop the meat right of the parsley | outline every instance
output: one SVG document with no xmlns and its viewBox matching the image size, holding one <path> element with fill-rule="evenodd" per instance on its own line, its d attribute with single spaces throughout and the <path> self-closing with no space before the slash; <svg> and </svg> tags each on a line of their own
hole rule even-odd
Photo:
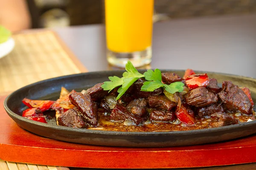
<svg viewBox="0 0 256 170">
<path fill-rule="evenodd" d="M 207 87 L 209 85 L 209 77 L 205 74 L 194 74 L 186 78 L 186 84 L 189 89 L 198 87 Z"/>
</svg>

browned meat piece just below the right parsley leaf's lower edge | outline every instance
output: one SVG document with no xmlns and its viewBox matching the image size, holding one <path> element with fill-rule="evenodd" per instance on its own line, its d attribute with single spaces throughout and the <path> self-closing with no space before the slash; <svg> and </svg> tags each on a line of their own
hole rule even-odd
<svg viewBox="0 0 256 170">
<path fill-rule="evenodd" d="M 148 105 L 150 108 L 170 111 L 172 108 L 177 106 L 177 103 L 172 102 L 166 96 L 149 96 Z"/>
</svg>

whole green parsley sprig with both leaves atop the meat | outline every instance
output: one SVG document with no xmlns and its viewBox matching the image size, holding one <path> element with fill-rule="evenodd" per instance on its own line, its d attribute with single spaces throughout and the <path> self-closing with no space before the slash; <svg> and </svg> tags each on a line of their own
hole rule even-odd
<svg viewBox="0 0 256 170">
<path fill-rule="evenodd" d="M 122 78 L 116 76 L 108 77 L 111 81 L 104 82 L 101 86 L 105 91 L 109 92 L 114 88 L 121 86 L 117 91 L 119 94 L 116 97 L 116 100 L 118 100 L 137 79 L 142 77 L 145 77 L 148 81 L 143 83 L 141 91 L 154 91 L 160 87 L 165 88 L 165 90 L 171 94 L 183 91 L 184 84 L 182 82 L 174 82 L 170 85 L 163 84 L 161 71 L 158 68 L 154 71 L 148 70 L 143 75 L 137 71 L 130 61 L 128 61 L 125 65 L 125 70 L 126 71 L 123 73 Z"/>
</svg>

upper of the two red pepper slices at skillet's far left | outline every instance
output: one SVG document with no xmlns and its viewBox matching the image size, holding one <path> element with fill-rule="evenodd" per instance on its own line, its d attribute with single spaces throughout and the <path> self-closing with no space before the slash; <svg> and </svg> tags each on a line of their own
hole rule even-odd
<svg viewBox="0 0 256 170">
<path fill-rule="evenodd" d="M 52 100 L 31 100 L 24 98 L 22 100 L 24 105 L 28 106 L 29 108 L 38 108 L 40 111 L 44 112 L 51 108 L 51 105 L 55 102 Z"/>
</svg>

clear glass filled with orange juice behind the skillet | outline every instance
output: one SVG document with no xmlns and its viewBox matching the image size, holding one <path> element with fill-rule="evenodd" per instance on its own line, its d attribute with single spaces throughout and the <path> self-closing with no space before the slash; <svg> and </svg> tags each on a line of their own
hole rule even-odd
<svg viewBox="0 0 256 170">
<path fill-rule="evenodd" d="M 107 59 L 111 65 L 135 67 L 151 62 L 154 0 L 105 0 Z"/>
</svg>

